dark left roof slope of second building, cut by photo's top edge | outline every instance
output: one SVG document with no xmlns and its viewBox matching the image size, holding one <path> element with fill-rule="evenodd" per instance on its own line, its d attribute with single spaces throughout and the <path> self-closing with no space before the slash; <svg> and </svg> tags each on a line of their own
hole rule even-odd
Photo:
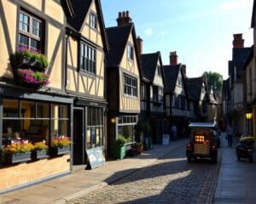
<svg viewBox="0 0 256 204">
<path fill-rule="evenodd" d="M 74 17 L 67 18 L 67 23 L 72 26 L 76 31 L 80 31 L 88 9 L 90 8 L 90 3 L 92 0 L 72 0 Z"/>
</svg>

